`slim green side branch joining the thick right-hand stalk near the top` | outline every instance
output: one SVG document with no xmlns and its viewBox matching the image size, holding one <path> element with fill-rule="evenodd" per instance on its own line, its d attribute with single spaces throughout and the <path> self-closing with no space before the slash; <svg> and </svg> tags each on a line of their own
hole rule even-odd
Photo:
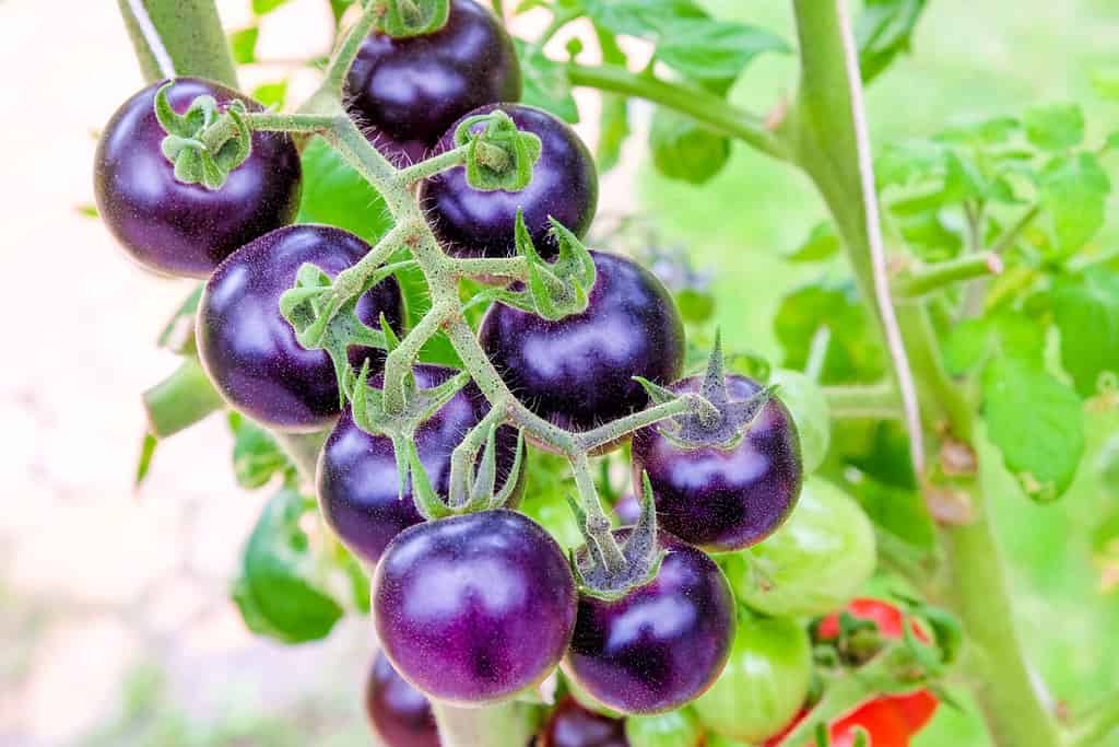
<svg viewBox="0 0 1119 747">
<path fill-rule="evenodd" d="M 666 109 L 687 114 L 697 122 L 728 138 L 736 138 L 753 146 L 773 158 L 789 157 L 784 143 L 765 128 L 760 116 L 744 112 L 703 88 L 683 83 L 668 83 L 652 75 L 634 75 L 620 65 L 589 67 L 571 64 L 567 66 L 567 78 L 572 85 L 646 99 Z"/>
</svg>

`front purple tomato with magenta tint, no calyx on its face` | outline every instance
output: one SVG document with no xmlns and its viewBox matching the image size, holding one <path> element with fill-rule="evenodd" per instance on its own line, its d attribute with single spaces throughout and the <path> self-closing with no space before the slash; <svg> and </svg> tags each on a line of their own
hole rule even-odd
<svg viewBox="0 0 1119 747">
<path fill-rule="evenodd" d="M 524 514 L 425 522 L 393 540 L 373 579 L 385 654 L 430 698 L 479 706 L 538 684 L 575 624 L 563 550 Z"/>
</svg>

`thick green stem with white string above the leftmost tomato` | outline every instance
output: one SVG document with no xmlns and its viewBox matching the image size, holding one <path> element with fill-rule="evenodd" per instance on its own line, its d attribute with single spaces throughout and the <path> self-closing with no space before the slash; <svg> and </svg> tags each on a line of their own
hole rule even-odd
<svg viewBox="0 0 1119 747">
<path fill-rule="evenodd" d="M 145 81 L 194 75 L 237 87 L 214 0 L 119 0 L 119 4 Z"/>
</svg>

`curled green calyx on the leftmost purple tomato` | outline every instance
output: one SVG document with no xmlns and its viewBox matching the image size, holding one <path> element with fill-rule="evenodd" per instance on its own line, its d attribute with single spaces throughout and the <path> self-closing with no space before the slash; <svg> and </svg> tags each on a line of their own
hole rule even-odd
<svg viewBox="0 0 1119 747">
<path fill-rule="evenodd" d="M 156 92 L 156 119 L 167 132 L 160 149 L 175 165 L 176 179 L 216 192 L 253 152 L 253 132 L 245 121 L 248 110 L 235 100 L 222 111 L 214 96 L 204 95 L 179 114 L 168 101 L 173 85 L 168 81 Z"/>
</svg>

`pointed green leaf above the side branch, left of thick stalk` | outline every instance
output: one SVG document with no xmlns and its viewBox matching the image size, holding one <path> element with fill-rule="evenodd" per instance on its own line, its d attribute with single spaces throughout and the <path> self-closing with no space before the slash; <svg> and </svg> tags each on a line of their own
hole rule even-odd
<svg viewBox="0 0 1119 747">
<path fill-rule="evenodd" d="M 791 52 L 784 39 L 743 24 L 677 19 L 661 31 L 657 57 L 698 81 L 733 80 L 762 53 Z"/>
</svg>

